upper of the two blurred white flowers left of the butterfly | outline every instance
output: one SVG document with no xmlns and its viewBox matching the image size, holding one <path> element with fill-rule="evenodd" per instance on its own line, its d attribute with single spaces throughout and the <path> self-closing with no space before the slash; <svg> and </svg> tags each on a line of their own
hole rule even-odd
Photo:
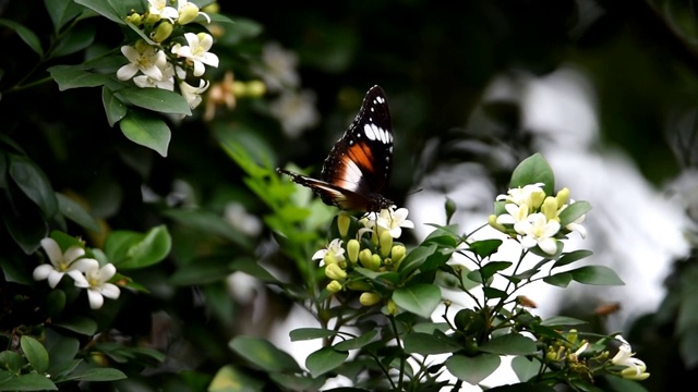
<svg viewBox="0 0 698 392">
<path fill-rule="evenodd" d="M 281 91 L 300 85 L 296 72 L 298 58 L 292 51 L 285 50 L 277 42 L 269 42 L 262 51 L 262 68 L 256 72 L 264 79 L 269 91 Z"/>
</svg>

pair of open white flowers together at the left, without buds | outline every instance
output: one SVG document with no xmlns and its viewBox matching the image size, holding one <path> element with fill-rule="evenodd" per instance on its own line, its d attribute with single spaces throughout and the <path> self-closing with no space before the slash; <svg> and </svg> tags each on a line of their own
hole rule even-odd
<svg viewBox="0 0 698 392">
<path fill-rule="evenodd" d="M 34 279 L 39 281 L 47 279 L 49 286 L 55 289 L 68 274 L 75 286 L 87 290 L 87 299 L 92 309 L 99 309 L 104 304 L 104 297 L 117 299 L 119 287 L 109 283 L 117 273 L 112 264 L 99 266 L 99 261 L 86 258 L 85 249 L 80 246 L 71 246 L 62 252 L 58 243 L 46 237 L 41 240 L 41 247 L 46 252 L 50 264 L 44 264 L 34 269 Z"/>
</svg>

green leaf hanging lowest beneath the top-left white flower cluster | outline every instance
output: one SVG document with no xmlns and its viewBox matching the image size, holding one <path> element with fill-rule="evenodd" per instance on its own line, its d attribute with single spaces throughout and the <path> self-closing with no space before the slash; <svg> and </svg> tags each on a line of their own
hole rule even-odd
<svg viewBox="0 0 698 392">
<path fill-rule="evenodd" d="M 161 119 L 152 113 L 130 110 L 121 119 L 119 126 L 129 140 L 148 147 L 163 157 L 167 157 L 171 133 Z"/>
</svg>

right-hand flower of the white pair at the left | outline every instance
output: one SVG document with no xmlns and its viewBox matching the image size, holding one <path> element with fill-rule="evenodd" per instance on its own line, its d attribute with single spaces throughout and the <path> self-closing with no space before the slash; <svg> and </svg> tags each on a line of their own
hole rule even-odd
<svg viewBox="0 0 698 392">
<path fill-rule="evenodd" d="M 105 302 L 104 297 L 117 299 L 121 294 L 116 284 L 108 283 L 117 273 L 117 267 L 112 264 L 100 268 L 99 261 L 83 258 L 77 260 L 75 269 L 68 273 L 73 278 L 77 287 L 87 289 L 87 299 L 92 309 L 99 309 Z"/>
</svg>

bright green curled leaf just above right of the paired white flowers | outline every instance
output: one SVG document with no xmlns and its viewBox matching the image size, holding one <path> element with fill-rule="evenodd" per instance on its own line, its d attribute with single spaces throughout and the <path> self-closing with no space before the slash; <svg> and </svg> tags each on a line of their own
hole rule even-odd
<svg viewBox="0 0 698 392">
<path fill-rule="evenodd" d="M 119 269 L 144 268 L 160 262 L 172 247 L 167 226 L 160 224 L 145 234 L 115 231 L 105 243 L 105 253 Z"/>
</svg>

